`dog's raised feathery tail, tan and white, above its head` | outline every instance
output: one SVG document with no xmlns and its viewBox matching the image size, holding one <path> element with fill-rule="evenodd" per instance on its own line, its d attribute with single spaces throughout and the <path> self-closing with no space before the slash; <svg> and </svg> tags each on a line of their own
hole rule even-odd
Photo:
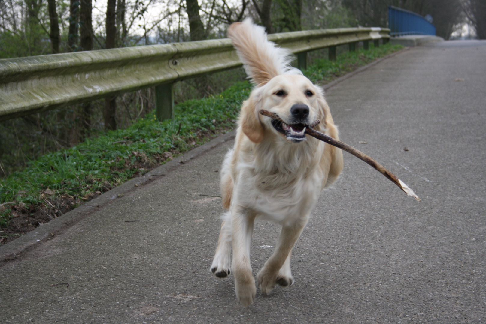
<svg viewBox="0 0 486 324">
<path fill-rule="evenodd" d="M 253 84 L 261 86 L 277 75 L 289 72 L 301 74 L 290 66 L 294 59 L 292 52 L 269 42 L 265 29 L 255 25 L 251 18 L 231 24 L 227 34 Z"/>
</svg>

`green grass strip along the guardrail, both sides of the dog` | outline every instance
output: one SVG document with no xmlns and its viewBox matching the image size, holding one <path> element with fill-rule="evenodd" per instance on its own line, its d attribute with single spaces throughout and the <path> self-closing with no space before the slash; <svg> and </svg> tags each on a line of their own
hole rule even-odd
<svg viewBox="0 0 486 324">
<path fill-rule="evenodd" d="M 313 82 L 326 83 L 400 48 L 370 47 L 369 51 L 338 55 L 333 62 L 316 60 L 304 74 Z M 7 227 L 18 213 L 32 215 L 49 204 L 55 210 L 56 199 L 70 199 L 72 209 L 202 144 L 211 134 L 233 128 L 250 91 L 248 82 L 240 82 L 220 95 L 177 104 L 172 120 L 158 122 L 150 113 L 127 129 L 110 131 L 30 161 L 23 171 L 0 179 L 0 228 Z"/>
</svg>

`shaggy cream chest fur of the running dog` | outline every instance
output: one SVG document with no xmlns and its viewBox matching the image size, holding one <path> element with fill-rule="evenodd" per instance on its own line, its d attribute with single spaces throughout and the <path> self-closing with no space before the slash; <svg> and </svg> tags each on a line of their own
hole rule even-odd
<svg viewBox="0 0 486 324">
<path fill-rule="evenodd" d="M 292 222 L 313 208 L 323 182 L 319 168 L 324 143 L 293 144 L 280 140 L 247 143 L 237 159 L 233 199 L 272 222 Z M 309 154 L 312 152 L 312 154 Z"/>
</svg>

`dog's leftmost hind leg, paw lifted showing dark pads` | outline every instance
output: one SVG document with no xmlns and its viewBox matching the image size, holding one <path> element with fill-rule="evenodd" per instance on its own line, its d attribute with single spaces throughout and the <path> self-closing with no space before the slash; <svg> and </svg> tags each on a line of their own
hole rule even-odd
<svg viewBox="0 0 486 324">
<path fill-rule="evenodd" d="M 218 247 L 211 264 L 211 272 L 218 278 L 225 278 L 230 273 L 231 267 L 231 214 L 224 216 L 219 232 Z"/>
</svg>

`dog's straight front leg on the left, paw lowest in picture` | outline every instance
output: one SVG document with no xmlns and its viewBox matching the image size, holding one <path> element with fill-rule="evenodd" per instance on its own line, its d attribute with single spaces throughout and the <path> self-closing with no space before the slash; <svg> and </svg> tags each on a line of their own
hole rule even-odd
<svg viewBox="0 0 486 324">
<path fill-rule="evenodd" d="M 251 270 L 250 246 L 255 213 L 248 209 L 235 212 L 232 218 L 233 263 L 236 297 L 243 306 L 253 302 L 257 294 Z"/>
</svg>

